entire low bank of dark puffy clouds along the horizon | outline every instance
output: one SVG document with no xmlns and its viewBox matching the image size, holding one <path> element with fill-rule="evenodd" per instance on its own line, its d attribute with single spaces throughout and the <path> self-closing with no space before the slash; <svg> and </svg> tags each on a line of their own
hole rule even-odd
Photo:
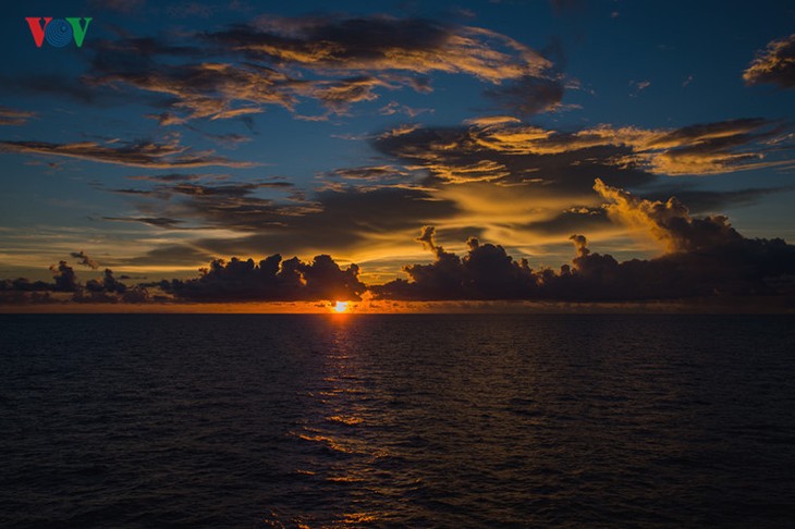
<svg viewBox="0 0 795 529">
<path fill-rule="evenodd" d="M 40 293 L 72 293 L 73 302 L 147 300 L 157 287 L 173 302 L 358 300 L 369 290 L 377 299 L 393 300 L 556 300 L 636 302 L 694 297 L 784 296 L 795 299 L 795 246 L 782 239 L 747 238 L 725 217 L 694 218 L 675 198 L 636 197 L 597 180 L 607 216 L 643 230 L 663 246 L 656 258 L 619 262 L 592 251 L 585 235 L 571 235 L 575 257 L 559 270 L 530 268 L 496 244 L 467 241 L 463 257 L 436 241 L 432 226 L 416 238 L 433 255 L 429 263 L 404 267 L 408 279 L 367 286 L 359 267 L 341 268 L 330 256 L 311 262 L 282 260 L 276 254 L 254 259 L 215 259 L 200 275 L 129 287 L 111 270 L 83 286 L 74 270 L 60 261 L 51 267 L 53 283 L 25 279 L 0 282 L 5 303 L 41 299 Z M 78 256 L 85 256 L 83 253 Z M 25 297 L 27 296 L 27 297 Z M 38 297 L 35 297 L 38 296 Z"/>
</svg>

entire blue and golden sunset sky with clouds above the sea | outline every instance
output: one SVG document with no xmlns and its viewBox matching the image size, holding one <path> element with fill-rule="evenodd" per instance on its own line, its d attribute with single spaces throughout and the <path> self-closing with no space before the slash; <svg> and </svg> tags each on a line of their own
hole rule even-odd
<svg viewBox="0 0 795 529">
<path fill-rule="evenodd" d="M 792 302 L 790 2 L 34 1 L 2 25 L 0 304 Z"/>
</svg>

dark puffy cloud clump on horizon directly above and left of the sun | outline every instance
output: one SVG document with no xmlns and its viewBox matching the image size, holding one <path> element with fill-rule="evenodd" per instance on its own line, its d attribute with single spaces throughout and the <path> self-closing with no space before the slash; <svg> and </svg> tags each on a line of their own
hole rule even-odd
<svg viewBox="0 0 795 529">
<path fill-rule="evenodd" d="M 359 299 L 365 291 L 358 272 L 356 264 L 343 270 L 327 255 L 307 263 L 295 257 L 282 261 L 277 254 L 256 263 L 234 257 L 229 262 L 215 259 L 199 278 L 160 286 L 192 302 L 344 300 Z"/>
</svg>

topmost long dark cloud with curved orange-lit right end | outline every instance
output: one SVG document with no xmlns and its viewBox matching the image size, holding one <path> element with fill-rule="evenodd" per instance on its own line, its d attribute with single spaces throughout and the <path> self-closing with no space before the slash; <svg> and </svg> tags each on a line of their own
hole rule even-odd
<svg viewBox="0 0 795 529">
<path fill-rule="evenodd" d="M 257 27 L 233 26 L 207 39 L 252 58 L 343 72 L 465 73 L 500 83 L 550 65 L 504 35 L 423 19 L 267 16 Z"/>
</svg>

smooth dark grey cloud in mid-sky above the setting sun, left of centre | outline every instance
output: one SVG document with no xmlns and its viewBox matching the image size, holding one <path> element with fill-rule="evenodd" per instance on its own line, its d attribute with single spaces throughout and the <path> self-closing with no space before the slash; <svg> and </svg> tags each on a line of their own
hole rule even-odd
<svg viewBox="0 0 795 529">
<path fill-rule="evenodd" d="M 382 174 L 369 169 L 359 168 L 357 175 Z M 276 190 L 282 187 L 280 185 Z M 417 222 L 450 218 L 458 212 L 454 202 L 435 197 L 430 189 L 404 185 L 340 185 L 317 192 L 311 199 L 293 194 L 286 199 L 252 196 L 258 188 L 242 184 L 221 186 L 216 192 L 182 187 L 178 193 L 172 187 L 157 187 L 164 194 L 162 198 L 172 198 L 138 205 L 140 216 L 108 217 L 106 220 L 143 222 L 166 229 L 200 226 L 244 232 L 244 236 L 235 238 L 203 238 L 189 246 L 172 246 L 174 256 L 184 264 L 207 261 L 212 254 L 228 256 L 265 249 L 311 255 L 347 253 L 368 246 L 371 239 L 379 245 L 400 244 L 402 234 Z M 201 251 L 196 253 L 196 248 Z M 157 259 L 173 257 L 161 255 L 163 250 L 159 248 L 155 254 L 140 256 L 135 263 L 155 264 Z"/>
</svg>

